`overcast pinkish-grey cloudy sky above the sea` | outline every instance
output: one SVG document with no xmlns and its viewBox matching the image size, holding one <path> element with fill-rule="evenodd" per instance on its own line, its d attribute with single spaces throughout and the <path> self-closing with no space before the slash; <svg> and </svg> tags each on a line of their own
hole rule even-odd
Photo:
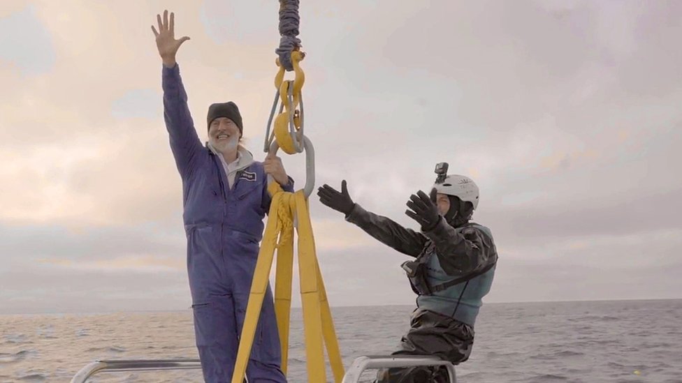
<svg viewBox="0 0 682 383">
<path fill-rule="evenodd" d="M 197 130 L 234 100 L 264 158 L 272 0 L 0 5 L 0 313 L 190 304 L 150 29 L 175 12 Z M 682 3 L 302 1 L 316 184 L 416 229 L 435 163 L 481 188 L 484 302 L 682 298 Z M 287 77 L 290 77 L 289 75 Z M 303 154 L 281 153 L 297 186 Z M 413 304 L 404 255 L 310 201 L 333 306 Z M 297 283 L 297 281 L 296 281 Z M 293 294 L 298 300 L 298 285 Z"/>
</svg>

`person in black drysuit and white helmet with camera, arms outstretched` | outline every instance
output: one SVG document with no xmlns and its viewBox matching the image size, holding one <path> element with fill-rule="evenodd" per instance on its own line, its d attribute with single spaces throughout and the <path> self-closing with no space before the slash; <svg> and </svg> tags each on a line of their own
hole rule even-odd
<svg viewBox="0 0 682 383">
<path fill-rule="evenodd" d="M 345 180 L 341 192 L 325 184 L 318 195 L 322 204 L 344 213 L 347 221 L 375 239 L 415 257 L 402 268 L 417 294 L 417 308 L 393 355 L 438 356 L 454 364 L 469 359 L 474 322 L 498 260 L 491 230 L 470 222 L 479 200 L 474 181 L 441 174 L 430 195 L 421 190 L 412 195 L 405 213 L 419 223 L 421 232 L 354 203 Z M 379 370 L 376 382 L 448 382 L 448 377 L 442 367 L 389 368 Z"/>
</svg>

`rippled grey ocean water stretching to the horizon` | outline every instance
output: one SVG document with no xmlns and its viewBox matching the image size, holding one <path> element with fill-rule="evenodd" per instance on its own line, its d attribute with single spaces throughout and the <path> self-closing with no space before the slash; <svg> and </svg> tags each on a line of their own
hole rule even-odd
<svg viewBox="0 0 682 383">
<path fill-rule="evenodd" d="M 389 354 L 410 306 L 333 308 L 344 366 Z M 289 382 L 307 382 L 292 309 Z M 68 382 L 96 359 L 197 358 L 191 311 L 0 315 L 0 382 Z M 370 381 L 372 370 L 363 375 Z M 682 382 L 682 300 L 485 304 L 458 382 Z M 328 373 L 331 382 L 331 373 Z M 101 373 L 91 382 L 201 382 L 201 370 Z"/>
</svg>

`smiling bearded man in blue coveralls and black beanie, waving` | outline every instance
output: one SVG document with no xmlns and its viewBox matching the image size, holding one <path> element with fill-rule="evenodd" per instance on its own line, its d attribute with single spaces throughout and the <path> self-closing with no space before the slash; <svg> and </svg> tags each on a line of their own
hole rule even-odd
<svg viewBox="0 0 682 383">
<path fill-rule="evenodd" d="M 175 62 L 189 37 L 174 36 L 174 15 L 157 15 L 152 26 L 163 61 L 164 119 L 170 149 L 182 179 L 187 271 L 194 310 L 196 347 L 205 382 L 231 382 L 239 336 L 270 209 L 267 177 L 293 192 L 293 180 L 272 153 L 254 161 L 239 143 L 242 117 L 233 102 L 210 105 L 208 143 L 201 144 Z M 249 382 L 286 382 L 270 288 L 256 328 L 247 366 Z"/>
</svg>

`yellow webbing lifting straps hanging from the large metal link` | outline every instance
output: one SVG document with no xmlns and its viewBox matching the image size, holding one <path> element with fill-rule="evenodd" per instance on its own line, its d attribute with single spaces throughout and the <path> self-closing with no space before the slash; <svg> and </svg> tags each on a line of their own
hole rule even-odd
<svg viewBox="0 0 682 383">
<path fill-rule="evenodd" d="M 296 193 L 284 192 L 277 182 L 271 182 L 268 185 L 268 191 L 270 195 L 273 195 L 273 201 L 256 262 L 232 383 L 242 383 L 246 372 L 248 356 L 251 353 L 254 333 L 263 304 L 263 296 L 268 286 L 268 276 L 273 265 L 275 248 L 277 248 L 275 313 L 282 346 L 282 370 L 286 374 L 286 362 L 289 354 L 294 218 L 298 219 L 298 273 L 301 303 L 303 305 L 308 382 L 326 382 L 323 343 L 326 344 L 334 380 L 341 382 L 344 368 L 315 253 L 307 199 L 303 190 L 298 190 Z M 278 238 L 279 243 L 277 242 Z"/>
</svg>

